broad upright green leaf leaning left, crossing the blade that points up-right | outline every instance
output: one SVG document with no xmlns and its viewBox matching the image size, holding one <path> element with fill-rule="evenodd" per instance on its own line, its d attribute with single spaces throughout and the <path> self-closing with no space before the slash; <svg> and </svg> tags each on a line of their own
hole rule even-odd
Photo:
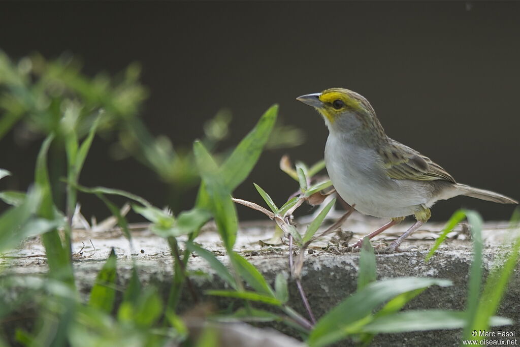
<svg viewBox="0 0 520 347">
<path fill-rule="evenodd" d="M 224 185 L 223 177 L 217 173 L 217 165 L 210 153 L 199 141 L 193 143 L 193 153 L 205 183 L 218 232 L 229 252 L 235 245 L 238 231 L 237 211 L 230 190 Z"/>
</svg>

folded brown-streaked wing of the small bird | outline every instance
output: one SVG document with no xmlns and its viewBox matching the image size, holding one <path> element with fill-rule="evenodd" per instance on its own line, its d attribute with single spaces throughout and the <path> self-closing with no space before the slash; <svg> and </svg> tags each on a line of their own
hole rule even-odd
<svg viewBox="0 0 520 347">
<path fill-rule="evenodd" d="M 456 183 L 440 165 L 416 150 L 394 140 L 380 149 L 386 174 L 395 179 L 417 179 L 418 181 L 435 181 L 441 179 Z"/>
</svg>

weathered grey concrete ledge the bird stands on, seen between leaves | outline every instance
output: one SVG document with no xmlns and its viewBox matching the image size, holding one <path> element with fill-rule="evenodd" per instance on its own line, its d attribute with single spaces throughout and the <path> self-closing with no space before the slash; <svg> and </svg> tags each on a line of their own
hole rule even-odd
<svg viewBox="0 0 520 347">
<path fill-rule="evenodd" d="M 335 216 L 333 216 L 335 217 Z M 303 221 L 298 221 L 304 224 Z M 329 220 L 332 222 L 332 220 Z M 361 235 L 374 230 L 385 221 L 368 219 L 358 214 L 343 225 L 339 232 L 318 241 L 305 256 L 302 271 L 302 284 L 310 305 L 317 317 L 328 312 L 347 295 L 356 290 L 359 252 L 353 252 L 348 246 Z M 403 223 L 383 233 L 373 244 L 383 246 L 388 240 L 404 232 L 409 224 Z M 405 306 L 406 309 L 449 309 L 464 310 L 467 295 L 467 279 L 472 261 L 472 242 L 464 225 L 459 225 L 433 258 L 425 263 L 424 258 L 433 246 L 444 224 L 428 223 L 412 237 L 405 241 L 402 249 L 412 247 L 405 252 L 394 254 L 377 254 L 378 279 L 400 276 L 420 276 L 446 278 L 453 281 L 453 286 L 427 289 Z M 235 249 L 246 256 L 259 271 L 271 282 L 278 273 L 288 277 L 288 246 L 273 238 L 274 224 L 270 221 L 243 223 L 240 226 Z M 350 232 L 353 232 L 352 235 Z M 507 222 L 487 223 L 483 230 L 485 241 L 484 266 L 485 273 L 500 260 L 500 255 L 508 252 L 508 240 L 514 231 L 508 229 Z M 214 252 L 224 264 L 228 264 L 222 243 L 212 224 L 206 225 L 204 232 L 197 238 L 203 247 Z M 180 243 L 182 248 L 182 242 Z M 505 245 L 505 246 L 504 246 Z M 94 249 L 95 248 L 95 249 Z M 149 232 L 146 227 L 133 232 L 132 248 L 123 237 L 120 230 L 106 230 L 94 233 L 91 230 L 76 230 L 74 233 L 74 270 L 77 286 L 86 296 L 92 287 L 96 274 L 103 265 L 110 250 L 114 248 L 118 255 L 118 281 L 125 286 L 131 275 L 133 260 L 138 265 L 138 273 L 144 284 L 154 284 L 159 287 L 166 299 L 171 286 L 173 261 L 166 241 Z M 47 271 L 43 247 L 38 239 L 29 240 L 23 247 L 2 259 L 1 276 L 16 276 L 28 283 L 34 276 Z M 502 338 L 514 340 L 520 335 L 520 275 L 517 266 L 511 278 L 498 315 L 514 320 L 514 325 L 490 328 L 490 331 L 514 331 L 515 337 Z M 226 285 L 220 280 L 213 269 L 200 257 L 192 255 L 189 270 L 193 273 L 192 281 L 199 297 L 207 289 L 223 289 Z M 181 300 L 183 310 L 193 307 L 190 293 L 185 290 Z M 221 300 L 204 296 L 218 307 L 225 307 L 229 300 Z M 296 290 L 294 282 L 290 281 L 290 305 L 305 315 L 304 307 Z M 281 325 L 277 329 L 298 336 L 295 330 Z M 385 334 L 377 336 L 373 345 L 458 345 L 461 331 L 418 331 L 410 333 Z M 345 341 L 338 345 L 351 345 Z M 506 342 L 508 343 L 508 342 Z M 511 342 L 509 342 L 511 343 Z M 518 342 L 520 343 L 520 342 Z"/>
</svg>

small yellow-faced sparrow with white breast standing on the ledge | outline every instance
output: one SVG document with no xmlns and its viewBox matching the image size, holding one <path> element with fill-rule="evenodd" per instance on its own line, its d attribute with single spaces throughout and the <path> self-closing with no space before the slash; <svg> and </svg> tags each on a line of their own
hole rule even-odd
<svg viewBox="0 0 520 347">
<path fill-rule="evenodd" d="M 314 107 L 329 129 L 325 166 L 337 194 L 365 215 L 390 221 L 359 239 L 371 239 L 413 215 L 415 223 L 387 247 L 400 251 L 402 241 L 431 217 L 438 200 L 459 195 L 514 203 L 496 192 L 460 184 L 439 164 L 386 135 L 370 102 L 345 88 L 329 88 L 296 100 Z"/>
</svg>

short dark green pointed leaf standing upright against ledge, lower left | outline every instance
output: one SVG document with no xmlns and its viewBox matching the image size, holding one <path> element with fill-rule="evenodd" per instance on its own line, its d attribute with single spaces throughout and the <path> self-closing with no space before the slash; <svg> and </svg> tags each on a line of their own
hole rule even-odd
<svg viewBox="0 0 520 347">
<path fill-rule="evenodd" d="M 88 304 L 106 313 L 111 313 L 115 299 L 116 256 L 114 249 L 110 251 L 107 262 L 96 277 L 90 290 Z"/>
</svg>

